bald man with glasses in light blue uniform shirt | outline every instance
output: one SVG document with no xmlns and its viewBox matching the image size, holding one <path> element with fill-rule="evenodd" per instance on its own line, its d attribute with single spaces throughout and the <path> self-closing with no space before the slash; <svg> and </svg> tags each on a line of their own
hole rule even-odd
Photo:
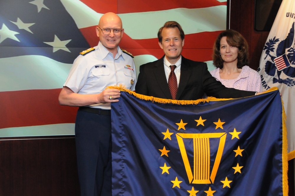
<svg viewBox="0 0 295 196">
<path fill-rule="evenodd" d="M 133 56 L 119 48 L 124 29 L 112 12 L 96 27 L 99 44 L 80 53 L 59 95 L 61 105 L 79 107 L 75 137 L 81 196 L 112 195 L 111 103 L 123 84 L 135 90 Z"/>
</svg>

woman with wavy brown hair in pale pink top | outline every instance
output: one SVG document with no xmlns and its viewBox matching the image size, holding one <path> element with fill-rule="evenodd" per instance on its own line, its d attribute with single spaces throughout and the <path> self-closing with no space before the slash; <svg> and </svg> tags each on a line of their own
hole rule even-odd
<svg viewBox="0 0 295 196">
<path fill-rule="evenodd" d="M 261 79 L 257 71 L 247 66 L 248 44 L 237 31 L 221 32 L 213 47 L 213 64 L 217 68 L 211 75 L 228 88 L 261 92 Z"/>
</svg>

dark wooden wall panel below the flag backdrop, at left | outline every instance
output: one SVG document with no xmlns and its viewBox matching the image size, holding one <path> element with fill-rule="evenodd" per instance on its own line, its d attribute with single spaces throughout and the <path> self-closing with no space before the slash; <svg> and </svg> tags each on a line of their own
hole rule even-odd
<svg viewBox="0 0 295 196">
<path fill-rule="evenodd" d="M 0 195 L 80 195 L 73 136 L 0 138 Z"/>
</svg>

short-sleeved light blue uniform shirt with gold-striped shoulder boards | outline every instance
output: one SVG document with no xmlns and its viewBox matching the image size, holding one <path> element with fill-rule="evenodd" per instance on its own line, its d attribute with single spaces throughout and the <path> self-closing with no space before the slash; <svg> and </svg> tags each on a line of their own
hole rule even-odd
<svg viewBox="0 0 295 196">
<path fill-rule="evenodd" d="M 113 58 L 113 54 L 100 41 L 94 48 L 75 59 L 63 86 L 78 94 L 99 94 L 106 86 L 118 84 L 134 91 L 137 80 L 133 58 L 122 52 L 119 46 Z M 94 104 L 90 107 L 110 110 L 111 104 Z"/>
</svg>

